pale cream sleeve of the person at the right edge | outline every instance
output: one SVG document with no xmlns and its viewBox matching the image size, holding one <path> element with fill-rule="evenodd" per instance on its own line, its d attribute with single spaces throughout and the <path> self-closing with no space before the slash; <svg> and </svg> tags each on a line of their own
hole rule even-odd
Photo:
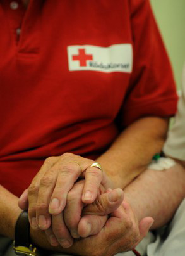
<svg viewBox="0 0 185 256">
<path fill-rule="evenodd" d="M 185 161 L 185 66 L 182 73 L 182 94 L 179 98 L 174 125 L 164 144 L 164 153 Z"/>
</svg>

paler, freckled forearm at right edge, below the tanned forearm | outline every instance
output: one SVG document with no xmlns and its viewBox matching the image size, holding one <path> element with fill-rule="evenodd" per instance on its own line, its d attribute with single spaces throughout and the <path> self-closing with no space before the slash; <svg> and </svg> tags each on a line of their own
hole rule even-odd
<svg viewBox="0 0 185 256">
<path fill-rule="evenodd" d="M 148 169 L 124 193 L 138 220 L 151 216 L 156 229 L 171 219 L 185 196 L 185 170 L 178 164 L 162 171 Z"/>
</svg>

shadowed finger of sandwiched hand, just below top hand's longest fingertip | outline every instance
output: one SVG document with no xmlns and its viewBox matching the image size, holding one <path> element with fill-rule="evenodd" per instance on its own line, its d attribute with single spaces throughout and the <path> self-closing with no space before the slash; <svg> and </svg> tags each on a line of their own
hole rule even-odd
<svg viewBox="0 0 185 256">
<path fill-rule="evenodd" d="M 69 248 L 73 245 L 73 238 L 71 238 L 68 228 L 64 223 L 63 213 L 52 215 L 52 231 L 63 248 Z"/>
</svg>

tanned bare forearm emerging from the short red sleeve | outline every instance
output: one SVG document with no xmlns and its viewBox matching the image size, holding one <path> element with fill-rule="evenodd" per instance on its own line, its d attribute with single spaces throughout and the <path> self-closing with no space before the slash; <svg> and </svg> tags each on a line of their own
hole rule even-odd
<svg viewBox="0 0 185 256">
<path fill-rule="evenodd" d="M 145 117 L 129 125 L 97 162 L 117 188 L 124 188 L 146 169 L 165 141 L 168 120 Z"/>
</svg>

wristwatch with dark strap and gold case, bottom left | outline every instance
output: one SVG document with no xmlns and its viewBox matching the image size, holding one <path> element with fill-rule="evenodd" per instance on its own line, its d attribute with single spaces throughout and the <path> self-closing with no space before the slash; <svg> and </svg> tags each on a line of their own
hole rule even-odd
<svg viewBox="0 0 185 256">
<path fill-rule="evenodd" d="M 16 255 L 40 256 L 39 249 L 30 243 L 30 223 L 27 211 L 21 212 L 16 221 L 13 249 Z"/>
</svg>

